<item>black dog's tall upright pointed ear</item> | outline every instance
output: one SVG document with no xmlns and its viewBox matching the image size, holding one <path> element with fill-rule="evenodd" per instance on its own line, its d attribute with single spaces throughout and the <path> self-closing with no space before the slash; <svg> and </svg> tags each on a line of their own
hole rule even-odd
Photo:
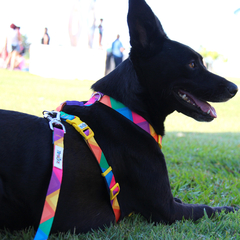
<svg viewBox="0 0 240 240">
<path fill-rule="evenodd" d="M 162 25 L 144 0 L 129 0 L 130 44 L 136 53 L 153 51 L 167 38 Z"/>
</svg>

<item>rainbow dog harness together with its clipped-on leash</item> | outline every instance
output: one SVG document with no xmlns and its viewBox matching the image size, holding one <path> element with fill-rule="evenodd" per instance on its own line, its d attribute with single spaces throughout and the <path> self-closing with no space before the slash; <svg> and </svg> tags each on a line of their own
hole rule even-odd
<svg viewBox="0 0 240 240">
<path fill-rule="evenodd" d="M 66 132 L 64 125 L 60 121 L 60 118 L 71 124 L 83 136 L 84 140 L 93 152 L 101 168 L 102 176 L 106 180 L 107 189 L 110 195 L 110 203 L 115 215 L 116 222 L 118 222 L 120 218 L 120 207 L 117 200 L 120 186 L 118 183 L 116 183 L 112 168 L 108 165 L 104 153 L 96 142 L 93 131 L 85 122 L 82 122 L 78 117 L 66 114 L 61 111 L 65 105 L 90 106 L 96 101 L 99 101 L 106 106 L 116 110 L 127 119 L 138 125 L 140 128 L 144 129 L 157 141 L 159 147 L 162 148 L 162 137 L 160 135 L 157 135 L 153 127 L 144 118 L 132 112 L 122 103 L 99 92 L 95 92 L 90 100 L 85 104 L 78 101 L 66 101 L 57 108 L 57 111 L 44 111 L 44 117 L 49 120 L 49 126 L 53 130 L 53 170 L 48 186 L 40 225 L 38 227 L 34 240 L 45 240 L 48 238 L 60 193 L 63 175 L 63 137 L 64 133 Z"/>
</svg>

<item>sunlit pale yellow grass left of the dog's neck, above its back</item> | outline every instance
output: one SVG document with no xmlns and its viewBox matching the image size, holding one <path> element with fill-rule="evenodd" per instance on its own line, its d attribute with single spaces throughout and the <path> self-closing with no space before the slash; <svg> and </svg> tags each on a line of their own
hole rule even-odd
<svg viewBox="0 0 240 240">
<path fill-rule="evenodd" d="M 56 80 L 0 70 L 0 108 L 42 116 L 65 100 L 87 100 L 93 81 Z"/>
</svg>

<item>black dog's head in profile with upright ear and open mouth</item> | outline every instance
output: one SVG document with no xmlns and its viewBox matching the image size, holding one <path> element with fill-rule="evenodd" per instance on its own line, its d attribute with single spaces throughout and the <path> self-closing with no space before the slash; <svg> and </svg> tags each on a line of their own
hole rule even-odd
<svg viewBox="0 0 240 240">
<path fill-rule="evenodd" d="M 202 56 L 170 40 L 144 0 L 129 0 L 130 59 L 156 108 L 165 104 L 198 121 L 216 117 L 207 103 L 224 102 L 238 91 L 235 84 L 209 72 Z"/>
</svg>

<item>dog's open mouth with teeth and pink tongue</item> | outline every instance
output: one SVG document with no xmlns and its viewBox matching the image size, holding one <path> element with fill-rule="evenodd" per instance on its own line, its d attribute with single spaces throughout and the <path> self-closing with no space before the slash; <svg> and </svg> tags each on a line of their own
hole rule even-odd
<svg viewBox="0 0 240 240">
<path fill-rule="evenodd" d="M 203 115 L 203 116 L 206 117 L 206 119 L 201 119 L 201 120 L 210 120 L 210 119 L 207 119 L 209 117 L 212 120 L 213 118 L 217 117 L 217 113 L 216 113 L 214 107 L 212 107 L 208 102 L 199 100 L 198 98 L 196 98 L 195 96 L 193 96 L 192 94 L 190 94 L 190 93 L 188 93 L 184 90 L 178 90 L 177 91 L 177 96 L 180 97 L 179 100 L 186 107 L 190 107 L 192 110 L 195 110 L 200 115 Z"/>
</svg>

